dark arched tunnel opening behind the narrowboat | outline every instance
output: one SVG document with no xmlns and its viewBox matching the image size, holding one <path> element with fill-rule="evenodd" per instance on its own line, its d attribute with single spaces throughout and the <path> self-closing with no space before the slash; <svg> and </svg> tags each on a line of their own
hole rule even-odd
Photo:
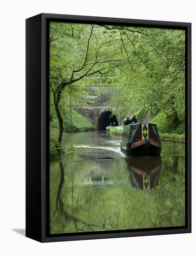
<svg viewBox="0 0 196 256">
<path fill-rule="evenodd" d="M 118 126 L 116 115 L 111 115 L 111 111 L 105 111 L 98 117 L 97 129 L 105 130 L 107 126 Z"/>
</svg>

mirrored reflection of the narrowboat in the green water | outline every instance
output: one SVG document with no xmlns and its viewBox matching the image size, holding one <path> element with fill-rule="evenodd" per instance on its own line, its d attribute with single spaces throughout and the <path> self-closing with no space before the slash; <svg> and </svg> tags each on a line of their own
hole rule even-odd
<svg viewBox="0 0 196 256">
<path fill-rule="evenodd" d="M 150 190 L 158 185 L 161 172 L 160 156 L 125 158 L 132 189 Z"/>
</svg>

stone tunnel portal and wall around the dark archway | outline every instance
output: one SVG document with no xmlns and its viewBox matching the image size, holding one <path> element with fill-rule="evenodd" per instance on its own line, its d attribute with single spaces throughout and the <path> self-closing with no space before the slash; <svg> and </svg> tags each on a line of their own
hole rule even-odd
<svg viewBox="0 0 196 256">
<path fill-rule="evenodd" d="M 119 117 L 115 115 L 115 108 L 107 107 L 111 96 L 118 93 L 118 90 L 117 86 L 91 86 L 88 91 L 90 95 L 98 95 L 98 100 L 89 108 L 75 107 L 73 109 L 91 121 L 96 130 L 105 130 L 113 122 L 118 125 Z"/>
</svg>

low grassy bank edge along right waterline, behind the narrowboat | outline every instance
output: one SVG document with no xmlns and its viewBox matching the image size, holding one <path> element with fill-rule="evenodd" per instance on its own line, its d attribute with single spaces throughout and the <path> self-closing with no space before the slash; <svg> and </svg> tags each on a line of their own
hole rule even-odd
<svg viewBox="0 0 196 256">
<path fill-rule="evenodd" d="M 110 132 L 113 135 L 123 135 L 123 126 L 106 127 L 106 131 Z M 159 133 L 159 137 L 161 141 L 175 141 L 175 142 L 185 142 L 185 135 L 184 134 L 169 134 L 169 133 Z"/>
</svg>

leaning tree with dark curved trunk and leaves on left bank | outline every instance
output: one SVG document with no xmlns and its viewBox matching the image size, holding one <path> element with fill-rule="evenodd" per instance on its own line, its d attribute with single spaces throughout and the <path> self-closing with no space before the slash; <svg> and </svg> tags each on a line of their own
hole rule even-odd
<svg viewBox="0 0 196 256">
<path fill-rule="evenodd" d="M 129 65 L 127 57 L 120 56 L 119 36 L 110 29 L 105 33 L 102 26 L 50 23 L 50 90 L 59 120 L 59 143 L 64 130 L 59 108 L 65 88 L 74 96 L 75 85 L 83 78 Z"/>
</svg>

